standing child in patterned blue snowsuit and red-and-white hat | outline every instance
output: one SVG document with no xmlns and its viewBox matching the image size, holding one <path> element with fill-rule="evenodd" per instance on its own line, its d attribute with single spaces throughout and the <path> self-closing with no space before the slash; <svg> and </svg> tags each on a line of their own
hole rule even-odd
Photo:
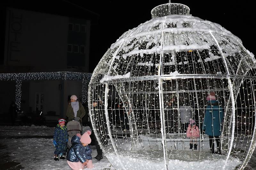
<svg viewBox="0 0 256 170">
<path fill-rule="evenodd" d="M 65 126 L 65 119 L 59 119 L 59 124 L 55 127 L 53 134 L 53 145 L 56 147 L 54 151 L 54 160 L 59 160 L 58 156 L 60 154 L 60 159 L 66 159 L 63 156 L 63 152 L 66 151 L 66 142 L 68 141 L 68 131 L 67 126 Z"/>
</svg>

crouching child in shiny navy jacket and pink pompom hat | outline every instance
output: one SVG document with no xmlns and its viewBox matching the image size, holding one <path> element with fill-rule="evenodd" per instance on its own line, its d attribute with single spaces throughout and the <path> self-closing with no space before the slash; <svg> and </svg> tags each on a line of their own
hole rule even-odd
<svg viewBox="0 0 256 170">
<path fill-rule="evenodd" d="M 88 144 L 91 143 L 91 131 L 87 131 L 81 136 L 77 134 L 71 139 L 72 146 L 70 147 L 67 154 L 67 163 L 72 170 L 93 168 L 92 165 L 92 149 Z"/>
</svg>

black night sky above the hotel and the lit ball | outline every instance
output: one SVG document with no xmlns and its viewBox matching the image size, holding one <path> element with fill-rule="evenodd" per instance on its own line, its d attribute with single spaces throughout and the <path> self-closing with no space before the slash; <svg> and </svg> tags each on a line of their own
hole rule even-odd
<svg viewBox="0 0 256 170">
<path fill-rule="evenodd" d="M 88 0 L 52 0 L 52 1 L 13 1 L 5 3 L 5 6 L 20 7 L 22 9 L 50 12 L 52 14 L 66 15 L 78 18 L 86 18 L 88 9 L 95 15 L 91 26 L 90 43 L 90 68 L 94 68 L 108 50 L 112 43 L 116 42 L 124 32 L 137 27 L 151 19 L 150 11 L 157 5 L 166 4 L 168 0 L 158 1 L 88 1 Z M 185 4 L 190 8 L 190 14 L 204 20 L 215 22 L 239 37 L 244 47 L 256 54 L 255 50 L 255 6 L 251 2 L 244 1 L 191 1 L 176 0 L 172 3 Z M 3 7 L 2 7 L 3 9 Z M 3 36 L 3 34 L 2 34 Z M 1 38 L 2 38 L 1 36 Z M 66 49 L 65 49 L 66 50 Z"/>
</svg>

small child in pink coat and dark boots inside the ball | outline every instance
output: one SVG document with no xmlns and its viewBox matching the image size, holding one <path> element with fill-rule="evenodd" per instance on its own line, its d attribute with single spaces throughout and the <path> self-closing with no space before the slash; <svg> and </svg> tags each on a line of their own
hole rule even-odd
<svg viewBox="0 0 256 170">
<path fill-rule="evenodd" d="M 196 126 L 196 122 L 193 119 L 189 119 L 189 125 L 187 129 L 187 137 L 190 138 L 190 148 L 193 149 L 193 141 L 194 139 L 199 138 L 199 129 Z M 197 150 L 197 141 L 194 143 L 194 149 Z"/>
</svg>

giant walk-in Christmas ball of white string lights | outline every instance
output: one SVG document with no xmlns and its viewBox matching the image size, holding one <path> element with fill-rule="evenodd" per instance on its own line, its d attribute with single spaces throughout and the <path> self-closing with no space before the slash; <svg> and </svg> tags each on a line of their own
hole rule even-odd
<svg viewBox="0 0 256 170">
<path fill-rule="evenodd" d="M 105 156 L 116 169 L 243 169 L 256 141 L 254 55 L 186 5 L 151 14 L 92 74 L 90 118 Z"/>
</svg>

